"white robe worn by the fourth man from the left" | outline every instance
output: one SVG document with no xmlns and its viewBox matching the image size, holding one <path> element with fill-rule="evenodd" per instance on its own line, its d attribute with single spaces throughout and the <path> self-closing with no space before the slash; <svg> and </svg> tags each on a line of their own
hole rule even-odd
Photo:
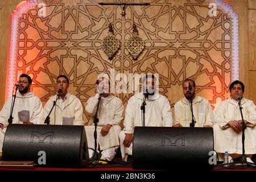
<svg viewBox="0 0 256 182">
<path fill-rule="evenodd" d="M 119 134 L 120 148 L 123 160 L 127 160 L 127 155 L 132 155 L 133 144 L 130 147 L 123 146 L 125 134 L 133 134 L 135 126 L 143 126 L 141 105 L 143 93 L 137 93 L 131 97 L 125 110 L 124 129 Z M 166 97 L 155 94 L 146 100 L 145 106 L 145 125 L 144 126 L 172 126 L 172 113 L 170 102 Z"/>
</svg>

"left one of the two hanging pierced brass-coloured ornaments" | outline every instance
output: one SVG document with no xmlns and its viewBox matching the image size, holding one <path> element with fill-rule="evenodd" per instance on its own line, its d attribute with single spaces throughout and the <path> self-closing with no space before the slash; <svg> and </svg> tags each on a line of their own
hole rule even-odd
<svg viewBox="0 0 256 182">
<path fill-rule="evenodd" d="M 109 57 L 109 60 L 111 60 L 115 53 L 118 51 L 118 48 L 120 47 L 120 42 L 115 36 L 113 35 L 114 31 L 112 28 L 112 24 L 109 24 L 109 34 L 106 36 L 102 41 L 102 49 L 106 53 L 106 55 Z"/>
</svg>

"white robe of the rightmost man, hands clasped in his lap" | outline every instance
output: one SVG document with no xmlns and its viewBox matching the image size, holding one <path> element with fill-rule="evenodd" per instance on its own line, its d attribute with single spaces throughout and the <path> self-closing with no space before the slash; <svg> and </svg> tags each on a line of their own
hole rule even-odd
<svg viewBox="0 0 256 182">
<path fill-rule="evenodd" d="M 253 101 L 242 98 L 243 119 L 248 121 L 245 129 L 245 154 L 256 153 L 256 106 Z M 242 131 L 237 134 L 227 124 L 242 120 L 238 101 L 228 98 L 218 105 L 214 114 L 214 150 L 219 153 L 242 154 Z"/>
</svg>

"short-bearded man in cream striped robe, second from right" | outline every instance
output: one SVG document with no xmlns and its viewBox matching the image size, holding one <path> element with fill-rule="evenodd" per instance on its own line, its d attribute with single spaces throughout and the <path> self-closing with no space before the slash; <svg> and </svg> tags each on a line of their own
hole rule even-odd
<svg viewBox="0 0 256 182">
<path fill-rule="evenodd" d="M 191 100 L 193 107 L 195 127 L 212 127 L 213 112 L 209 101 L 203 97 L 196 96 L 196 83 L 193 80 L 183 81 L 183 94 L 174 105 L 174 127 L 189 127 L 192 121 Z M 191 93 L 189 92 L 191 89 Z"/>
</svg>

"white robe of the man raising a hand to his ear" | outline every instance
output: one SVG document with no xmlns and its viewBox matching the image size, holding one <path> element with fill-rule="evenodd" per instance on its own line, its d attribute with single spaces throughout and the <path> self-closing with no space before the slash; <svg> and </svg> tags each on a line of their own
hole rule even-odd
<svg viewBox="0 0 256 182">
<path fill-rule="evenodd" d="M 85 110 L 92 117 L 88 126 L 85 126 L 88 147 L 94 149 L 94 123 L 93 117 L 96 113 L 99 94 L 90 97 L 87 101 Z M 121 122 L 123 119 L 123 104 L 122 101 L 113 95 L 106 98 L 102 97 L 98 108 L 97 117 L 99 119 L 97 126 L 97 144 L 101 150 L 106 150 L 110 147 L 119 146 L 118 134 L 121 131 Z M 100 133 L 103 126 L 110 124 L 112 127 L 109 133 L 102 136 Z"/>
</svg>

